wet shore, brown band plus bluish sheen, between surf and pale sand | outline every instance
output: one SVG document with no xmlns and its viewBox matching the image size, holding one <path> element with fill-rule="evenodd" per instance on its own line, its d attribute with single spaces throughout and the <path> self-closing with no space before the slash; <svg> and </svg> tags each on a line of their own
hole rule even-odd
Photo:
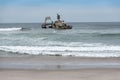
<svg viewBox="0 0 120 80">
<path fill-rule="evenodd" d="M 0 69 L 74 70 L 87 68 L 120 69 L 120 58 L 62 56 L 0 57 Z"/>
</svg>

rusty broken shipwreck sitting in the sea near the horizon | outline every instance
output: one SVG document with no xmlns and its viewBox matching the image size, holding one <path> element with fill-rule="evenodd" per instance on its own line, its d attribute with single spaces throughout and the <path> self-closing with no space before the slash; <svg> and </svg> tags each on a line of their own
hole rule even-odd
<svg viewBox="0 0 120 80">
<path fill-rule="evenodd" d="M 50 21 L 49 23 L 47 21 Z M 72 29 L 71 25 L 68 25 L 64 20 L 60 19 L 60 15 L 57 14 L 57 20 L 52 21 L 51 17 L 45 17 L 44 23 L 41 25 L 42 28 L 53 28 L 53 29 Z"/>
</svg>

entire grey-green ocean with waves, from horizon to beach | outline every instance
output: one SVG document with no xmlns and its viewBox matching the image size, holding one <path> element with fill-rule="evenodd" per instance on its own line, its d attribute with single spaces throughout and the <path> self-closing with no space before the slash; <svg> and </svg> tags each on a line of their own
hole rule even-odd
<svg viewBox="0 0 120 80">
<path fill-rule="evenodd" d="M 0 56 L 120 57 L 120 22 L 74 22 L 68 30 L 41 23 L 0 23 Z"/>
</svg>

